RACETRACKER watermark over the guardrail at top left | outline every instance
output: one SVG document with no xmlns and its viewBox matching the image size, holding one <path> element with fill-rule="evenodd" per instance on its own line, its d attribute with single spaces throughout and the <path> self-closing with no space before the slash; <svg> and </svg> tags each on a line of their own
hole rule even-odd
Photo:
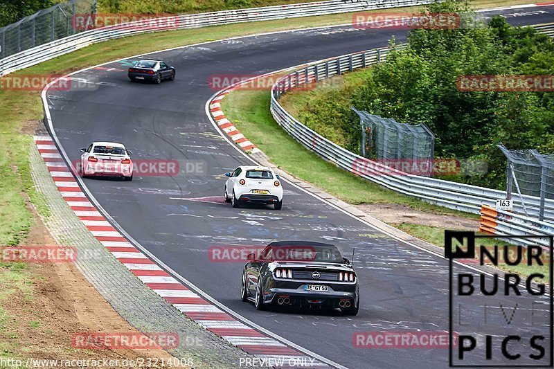
<svg viewBox="0 0 554 369">
<path fill-rule="evenodd" d="M 91 30 L 102 27 L 125 30 L 177 30 L 201 24 L 194 15 L 175 14 L 75 14 L 71 17 L 74 30 Z"/>
</svg>

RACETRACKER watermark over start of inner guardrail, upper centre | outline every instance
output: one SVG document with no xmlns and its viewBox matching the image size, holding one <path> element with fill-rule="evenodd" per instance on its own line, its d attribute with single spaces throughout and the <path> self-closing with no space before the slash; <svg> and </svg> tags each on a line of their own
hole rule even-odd
<svg viewBox="0 0 554 369">
<path fill-rule="evenodd" d="M 253 74 L 213 74 L 208 77 L 208 87 L 213 91 L 220 91 L 234 86 L 233 89 L 243 91 L 268 91 L 273 85 L 283 79 L 286 87 L 292 87 L 298 90 L 311 90 L 316 87 L 341 88 L 344 85 L 342 78 L 325 78 L 316 82 L 314 75 L 305 75 L 305 72 L 292 73 L 285 75 L 281 73 L 271 75 L 253 75 Z"/>
</svg>

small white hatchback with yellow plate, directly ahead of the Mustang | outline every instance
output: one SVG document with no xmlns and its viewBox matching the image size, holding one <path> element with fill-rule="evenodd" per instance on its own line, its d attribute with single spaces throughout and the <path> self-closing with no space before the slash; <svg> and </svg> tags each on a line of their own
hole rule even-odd
<svg viewBox="0 0 554 369">
<path fill-rule="evenodd" d="M 225 202 L 233 208 L 241 203 L 274 204 L 276 210 L 283 206 L 283 186 L 271 168 L 242 165 L 225 175 Z"/>
</svg>

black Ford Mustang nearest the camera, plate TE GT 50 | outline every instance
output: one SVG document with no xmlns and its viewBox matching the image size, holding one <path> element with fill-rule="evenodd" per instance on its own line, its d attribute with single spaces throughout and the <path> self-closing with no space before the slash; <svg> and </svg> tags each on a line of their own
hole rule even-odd
<svg viewBox="0 0 554 369">
<path fill-rule="evenodd" d="M 242 301 L 270 305 L 340 308 L 357 315 L 359 286 L 350 260 L 337 246 L 319 242 L 272 242 L 251 253 L 242 272 Z"/>
</svg>

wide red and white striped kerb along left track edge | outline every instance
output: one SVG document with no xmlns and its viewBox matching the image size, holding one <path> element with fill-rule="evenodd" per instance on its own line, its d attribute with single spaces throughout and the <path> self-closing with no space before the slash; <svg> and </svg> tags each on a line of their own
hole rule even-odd
<svg viewBox="0 0 554 369">
<path fill-rule="evenodd" d="M 237 135 L 240 132 L 233 134 Z M 235 142 L 239 140 L 240 138 Z M 245 142 L 249 143 L 249 141 L 240 141 L 239 145 L 242 143 L 241 146 L 245 150 L 257 150 L 251 143 L 244 145 Z M 128 242 L 89 201 L 50 136 L 35 136 L 35 143 L 57 189 L 60 190 L 75 215 L 81 219 L 84 226 L 89 228 L 96 240 L 100 241 L 117 260 L 159 296 L 199 325 L 245 352 L 259 359 L 271 358 L 275 362 L 283 363 L 280 368 L 298 366 L 298 363 L 304 363 L 303 366 L 310 368 L 328 368 L 325 363 L 314 360 L 303 352 L 236 320 L 170 276 Z"/>
</svg>

